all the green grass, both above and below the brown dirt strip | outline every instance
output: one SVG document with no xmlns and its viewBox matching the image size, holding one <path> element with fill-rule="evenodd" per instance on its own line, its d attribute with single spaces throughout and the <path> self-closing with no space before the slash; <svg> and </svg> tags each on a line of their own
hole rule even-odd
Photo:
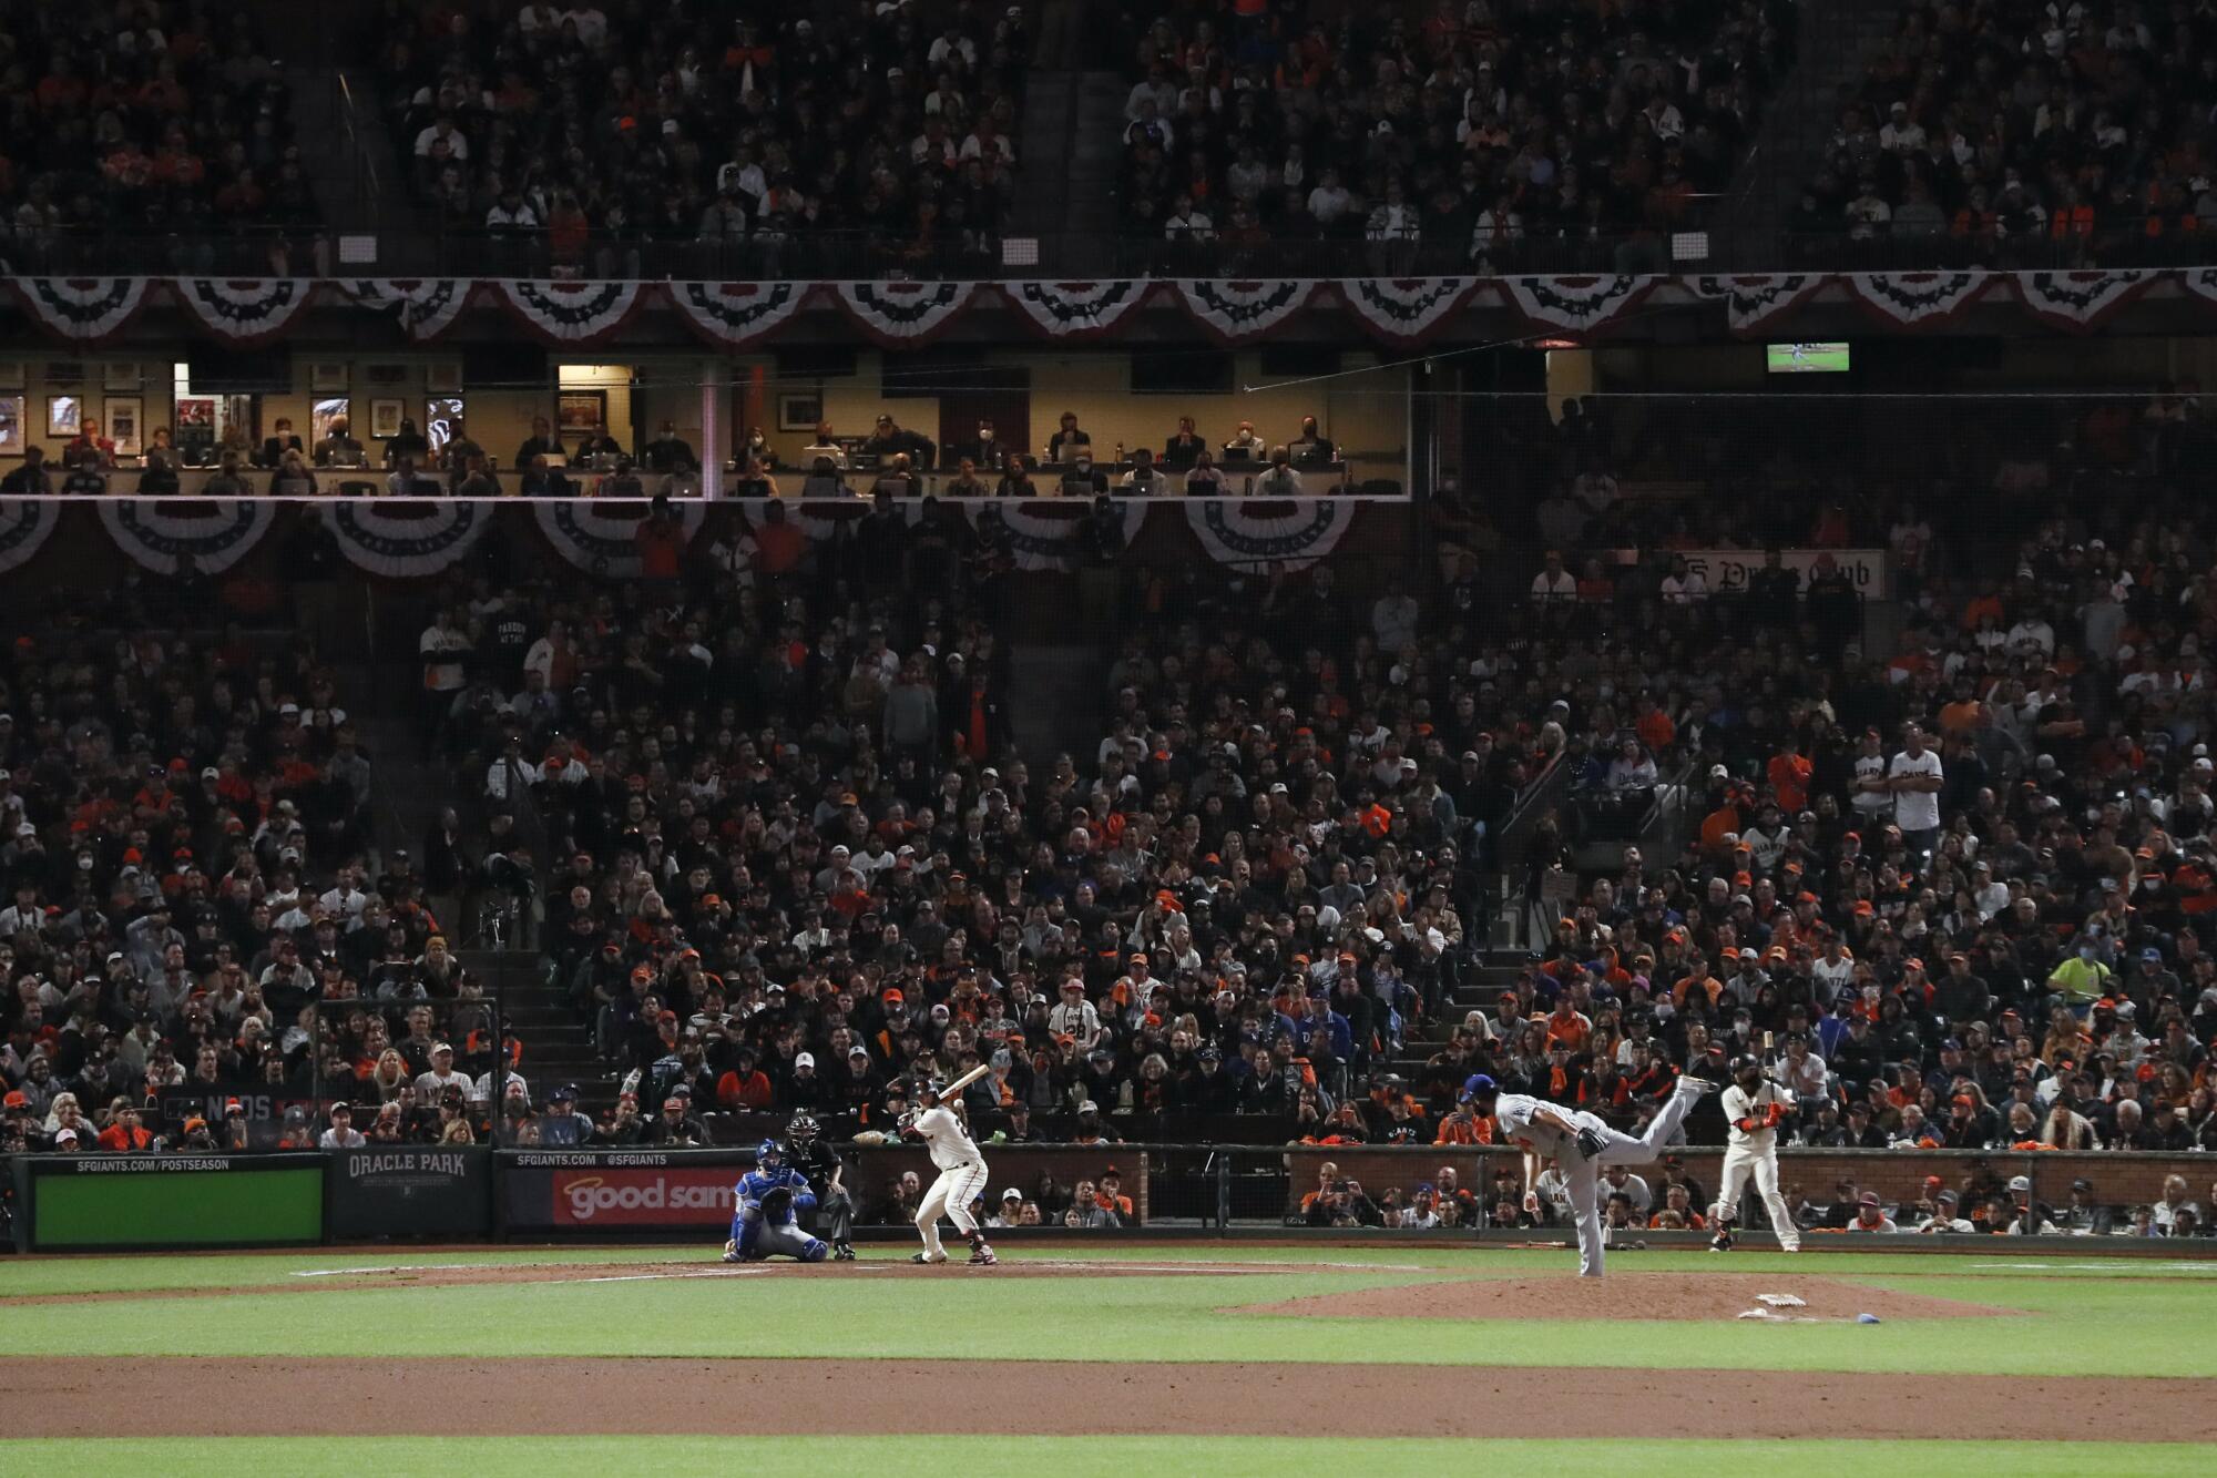
<svg viewBox="0 0 2217 1478">
<path fill-rule="evenodd" d="M 865 1249 L 905 1258 L 907 1247 Z M 650 1263 L 650 1272 L 705 1267 L 712 1252 L 692 1247 L 499 1247 L 477 1252 L 346 1249 L 273 1256 L 71 1256 L 0 1263 L 4 1354 L 40 1356 L 259 1356 L 359 1360 L 364 1332 L 466 1332 L 446 1354 L 472 1358 L 623 1356 L 667 1358 L 849 1358 L 936 1360 L 949 1352 L 1000 1360 L 1237 1363 L 1319 1365 L 1423 1363 L 1472 1367 L 1658 1367 L 1778 1369 L 1944 1376 L 2190 1376 L 2217 1378 L 2217 1263 L 2153 1263 L 1980 1256 L 1785 1258 L 1692 1252 L 1612 1256 L 1612 1278 L 1674 1272 L 1778 1272 L 2017 1309 L 2024 1318 L 1889 1320 L 1869 1325 L 1765 1327 L 1754 1323 L 1610 1320 L 1379 1320 L 1244 1312 L 1312 1294 L 1437 1283 L 1441 1278 L 1561 1276 L 1570 1254 L 1465 1249 L 1448 1245 L 1266 1247 L 1102 1247 L 1097 1243 L 1004 1249 L 1007 1263 L 1082 1258 L 1131 1263 L 1281 1265 L 1268 1274 L 1164 1274 L 1024 1278 L 949 1269 L 933 1278 L 814 1276 L 778 1269 L 745 1278 L 632 1278 L 592 1283 L 610 1263 Z M 346 1285 L 346 1269 L 534 1265 L 541 1276 L 576 1280 L 488 1285 Z M 636 1269 L 632 1269 L 636 1272 Z M 277 1292 L 282 1289 L 282 1292 Z M 306 1292 L 297 1292 L 306 1289 Z M 219 1298 L 180 1294 L 222 1294 Z M 91 1303 L 47 1298 L 95 1294 Z M 22 1303 L 35 1300 L 35 1303 Z M 0 1387 L 0 1409 L 9 1405 Z M 2217 1429 L 2217 1414 L 2210 1416 Z M 991 1431 L 989 1414 L 978 1416 Z M 0 1423 L 0 1434 L 20 1431 Z M 1543 1427 L 1541 1427 L 1543 1429 Z M 1654 1442 L 1406 1440 L 1337 1442 L 1284 1438 L 1148 1438 L 1146 1427 L 1104 1436 L 758 1438 L 752 1462 L 947 1467 L 964 1474 L 1093 1471 L 1286 1471 L 1288 1465 L 1359 1462 L 1368 1471 L 1437 1471 L 1483 1447 L 1505 1471 L 1592 1471 L 1621 1449 L 1641 1462 Z M 2128 1420 L 2093 1418 L 2088 1438 L 2131 1438 Z M 1898 1449 L 1898 1451 L 1889 1451 Z M 2088 1442 L 1672 1442 L 1676 1462 L 1913 1462 L 1938 1460 L 1951 1474 L 2213 1471 L 2217 1447 Z M 428 1469 L 463 1465 L 479 1474 L 548 1474 L 605 1456 L 661 1471 L 729 1465 L 727 1436 L 656 1438 L 53 1438 L 0 1440 L 0 1471 L 35 1474 L 308 1474 L 364 1467 Z"/>
</svg>

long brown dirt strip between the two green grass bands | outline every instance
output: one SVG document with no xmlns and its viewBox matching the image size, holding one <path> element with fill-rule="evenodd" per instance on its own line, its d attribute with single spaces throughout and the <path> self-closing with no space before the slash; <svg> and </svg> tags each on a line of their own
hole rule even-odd
<svg viewBox="0 0 2217 1478">
<path fill-rule="evenodd" d="M 1944 1398 L 1935 1398 L 1935 1389 Z M 2217 1380 L 1051 1360 L 0 1358 L 9 1436 L 2217 1440 Z M 980 1438 L 991 1440 L 991 1438 Z"/>
</svg>

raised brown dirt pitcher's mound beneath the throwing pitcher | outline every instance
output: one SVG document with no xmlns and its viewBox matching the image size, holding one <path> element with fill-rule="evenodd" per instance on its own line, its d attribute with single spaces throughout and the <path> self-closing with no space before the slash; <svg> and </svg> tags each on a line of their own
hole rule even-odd
<svg viewBox="0 0 2217 1478">
<path fill-rule="evenodd" d="M 1767 1305 L 1763 1294 L 1789 1294 L 1796 1305 Z M 1317 1294 L 1257 1303 L 1239 1314 L 1310 1314 L 1328 1318 L 1661 1318 L 1734 1320 L 1763 1309 L 1778 1320 L 1853 1323 L 1858 1314 L 1893 1318 L 1989 1318 L 2015 1314 L 1982 1303 L 1927 1298 L 1802 1274 L 1612 1274 L 1607 1278 L 1470 1278 L 1414 1283 L 1357 1294 Z M 1756 1323 L 1756 1320 L 1749 1320 Z"/>
</svg>

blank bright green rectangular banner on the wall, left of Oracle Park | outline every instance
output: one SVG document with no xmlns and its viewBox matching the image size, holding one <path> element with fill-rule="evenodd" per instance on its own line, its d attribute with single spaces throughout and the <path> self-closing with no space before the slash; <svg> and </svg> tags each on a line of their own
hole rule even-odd
<svg viewBox="0 0 2217 1478">
<path fill-rule="evenodd" d="M 324 1241 L 321 1154 L 38 1156 L 31 1249 Z"/>
</svg>

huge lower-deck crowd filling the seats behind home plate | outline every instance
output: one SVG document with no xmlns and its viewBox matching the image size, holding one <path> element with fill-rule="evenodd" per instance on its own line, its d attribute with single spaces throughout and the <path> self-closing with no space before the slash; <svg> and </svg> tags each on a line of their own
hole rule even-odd
<svg viewBox="0 0 2217 1478">
<path fill-rule="evenodd" d="M 55 621 L 0 692 L 11 1134 L 155 1147 L 193 1074 L 346 1090 L 348 1125 L 286 1143 L 683 1145 L 803 1107 L 854 1134 L 984 1063 L 969 1107 L 1009 1141 L 1113 1154 L 1248 1116 L 1485 1145 L 1470 1072 L 1636 1130 L 1771 1034 L 1787 1143 L 2217 1150 L 2217 539 L 2177 495 L 2208 428 L 2166 404 L 2093 464 L 2088 424 L 2000 455 L 2024 533 L 1998 566 L 1904 497 L 1820 513 L 1884 550 L 1898 626 L 1829 626 L 1822 561 L 1712 593 L 1669 548 L 1616 577 L 1550 559 L 1505 597 L 1448 550 L 1352 593 L 1332 561 L 1126 568 L 1108 522 L 1106 719 L 1038 763 L 995 519 L 871 508 L 803 539 L 725 506 L 643 581 L 488 553 L 421 639 L 419 735 L 466 781 L 375 874 L 375 768 L 313 655 Z M 1607 477 L 1598 446 L 1579 466 Z M 1434 499 L 1434 533 L 1481 522 Z M 1683 846 L 1581 861 L 1665 799 Z M 1494 870 L 1539 919 L 1523 965 L 1483 954 Z M 488 903 L 592 1025 L 607 1114 L 494 1041 L 452 948 Z M 255 1127 L 162 1145 L 191 1134 Z M 1419 1190 L 1324 1216 L 1403 1218 Z M 1494 1214 L 1465 1190 L 1445 1212 L 1432 1181 L 1412 1225 Z M 1931 1190 L 1995 1218 L 1984 1181 Z M 1652 1192 L 1649 1221 L 1676 1212 L 1667 1174 Z M 1814 1218 L 1845 1205 L 1809 1192 Z"/>
</svg>

